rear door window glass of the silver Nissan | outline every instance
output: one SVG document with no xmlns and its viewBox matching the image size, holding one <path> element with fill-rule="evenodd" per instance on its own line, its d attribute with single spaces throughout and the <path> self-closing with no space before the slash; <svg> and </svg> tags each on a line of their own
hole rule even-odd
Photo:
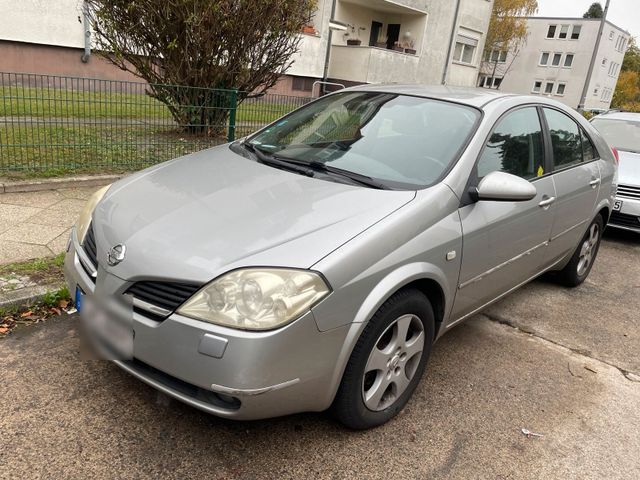
<svg viewBox="0 0 640 480">
<path fill-rule="evenodd" d="M 556 170 L 582 163 L 582 138 L 580 128 L 573 119 L 557 110 L 544 109 Z"/>
</svg>

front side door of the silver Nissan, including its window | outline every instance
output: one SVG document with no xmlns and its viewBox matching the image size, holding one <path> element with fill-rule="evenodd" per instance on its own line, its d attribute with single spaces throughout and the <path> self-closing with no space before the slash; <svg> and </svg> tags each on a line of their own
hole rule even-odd
<svg viewBox="0 0 640 480">
<path fill-rule="evenodd" d="M 537 195 L 524 202 L 478 201 L 460 208 L 463 253 L 453 321 L 531 279 L 548 263 L 556 193 L 545 172 L 542 132 L 536 107 L 513 110 L 498 121 L 478 159 L 477 182 L 503 171 L 531 181 Z"/>
</svg>

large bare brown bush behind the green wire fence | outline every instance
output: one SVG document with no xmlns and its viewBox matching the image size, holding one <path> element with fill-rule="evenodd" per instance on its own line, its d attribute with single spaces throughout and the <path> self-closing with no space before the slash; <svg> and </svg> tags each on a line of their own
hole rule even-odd
<svg viewBox="0 0 640 480">
<path fill-rule="evenodd" d="M 224 125 L 291 66 L 316 0 L 87 0 L 99 52 L 149 82 L 189 131 Z M 183 87 L 183 88 L 181 88 Z M 199 88 L 184 88 L 199 87 Z M 219 89 L 219 90 L 211 90 Z"/>
</svg>

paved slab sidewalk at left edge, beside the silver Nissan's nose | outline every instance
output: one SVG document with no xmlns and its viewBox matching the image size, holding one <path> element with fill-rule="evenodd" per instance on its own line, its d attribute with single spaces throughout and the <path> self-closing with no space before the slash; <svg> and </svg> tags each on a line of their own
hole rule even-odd
<svg viewBox="0 0 640 480">
<path fill-rule="evenodd" d="M 0 194 L 0 265 L 63 252 L 97 186 Z"/>
</svg>

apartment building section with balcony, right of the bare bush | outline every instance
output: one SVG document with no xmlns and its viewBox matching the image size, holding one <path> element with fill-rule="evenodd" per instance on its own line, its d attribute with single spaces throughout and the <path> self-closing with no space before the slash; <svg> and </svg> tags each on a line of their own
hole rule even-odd
<svg viewBox="0 0 640 480">
<path fill-rule="evenodd" d="M 335 5 L 334 5 L 335 3 Z M 281 88 L 300 93 L 324 76 L 344 85 L 475 85 L 492 0 L 319 0 L 313 34 L 304 34 Z M 329 20 L 334 31 L 327 63 Z"/>
</svg>

